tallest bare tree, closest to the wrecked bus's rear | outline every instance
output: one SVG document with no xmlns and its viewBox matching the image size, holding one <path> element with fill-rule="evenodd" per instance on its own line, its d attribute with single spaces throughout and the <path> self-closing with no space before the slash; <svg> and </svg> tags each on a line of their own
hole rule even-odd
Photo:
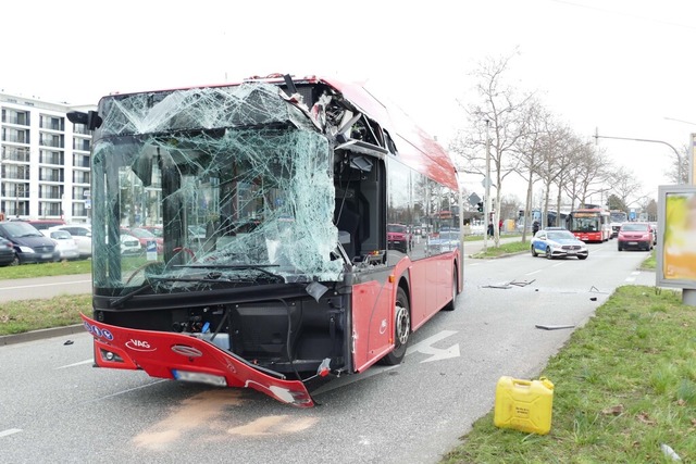
<svg viewBox="0 0 696 464">
<path fill-rule="evenodd" d="M 505 83 L 511 58 L 488 58 L 474 71 L 476 102 L 464 106 L 469 128 L 460 130 L 450 145 L 450 150 L 464 160 L 464 172 L 484 176 L 487 175 L 486 147 L 489 146 L 493 179 L 487 181 L 496 188 L 496 204 L 500 204 L 502 181 L 518 171 L 519 160 L 513 154 L 525 130 L 526 105 L 531 98 L 530 95 L 518 95 Z M 499 211 L 496 211 L 493 217 L 496 247 L 500 240 L 498 220 Z"/>
</svg>

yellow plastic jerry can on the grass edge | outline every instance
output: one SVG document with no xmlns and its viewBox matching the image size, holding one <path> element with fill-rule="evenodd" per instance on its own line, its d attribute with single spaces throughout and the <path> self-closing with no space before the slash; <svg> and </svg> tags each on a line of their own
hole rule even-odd
<svg viewBox="0 0 696 464">
<path fill-rule="evenodd" d="M 496 427 L 546 435 L 551 429 L 554 384 L 546 377 L 520 380 L 502 376 L 496 385 Z"/>
</svg>

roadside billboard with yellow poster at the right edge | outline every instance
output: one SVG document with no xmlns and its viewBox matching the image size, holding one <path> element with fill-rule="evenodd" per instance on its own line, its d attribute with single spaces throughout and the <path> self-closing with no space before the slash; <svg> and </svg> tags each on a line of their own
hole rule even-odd
<svg viewBox="0 0 696 464">
<path fill-rule="evenodd" d="M 696 186 L 658 189 L 657 285 L 696 289 Z"/>
</svg>

